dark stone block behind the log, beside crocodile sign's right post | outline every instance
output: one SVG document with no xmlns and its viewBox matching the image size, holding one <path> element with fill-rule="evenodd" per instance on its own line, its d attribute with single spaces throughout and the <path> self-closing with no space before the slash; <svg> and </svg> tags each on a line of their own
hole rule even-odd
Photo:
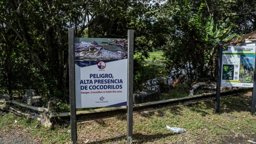
<svg viewBox="0 0 256 144">
<path fill-rule="evenodd" d="M 133 94 L 133 104 L 159 101 L 159 93 L 157 91 L 143 91 Z"/>
</svg>

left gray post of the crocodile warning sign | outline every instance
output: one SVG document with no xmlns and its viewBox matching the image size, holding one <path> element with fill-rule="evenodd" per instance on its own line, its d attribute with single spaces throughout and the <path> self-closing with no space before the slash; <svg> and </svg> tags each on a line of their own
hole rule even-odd
<svg viewBox="0 0 256 144">
<path fill-rule="evenodd" d="M 70 100 L 70 124 L 71 141 L 76 144 L 76 98 L 75 98 L 75 53 L 74 53 L 74 28 L 68 28 L 68 67 L 69 67 L 69 100 Z"/>
</svg>

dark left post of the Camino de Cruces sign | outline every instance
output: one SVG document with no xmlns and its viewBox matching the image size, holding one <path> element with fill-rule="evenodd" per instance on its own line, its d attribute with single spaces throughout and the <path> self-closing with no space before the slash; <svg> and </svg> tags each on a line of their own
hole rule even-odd
<svg viewBox="0 0 256 144">
<path fill-rule="evenodd" d="M 222 66 L 222 43 L 219 43 L 219 58 L 218 58 L 218 76 L 217 76 L 217 88 L 216 88 L 216 101 L 215 112 L 219 113 L 219 103 L 221 99 L 221 66 Z"/>
</svg>

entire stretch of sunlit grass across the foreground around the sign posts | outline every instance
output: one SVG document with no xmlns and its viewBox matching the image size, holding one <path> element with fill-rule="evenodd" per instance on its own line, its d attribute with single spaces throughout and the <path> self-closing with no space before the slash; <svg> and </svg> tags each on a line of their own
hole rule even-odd
<svg viewBox="0 0 256 144">
<path fill-rule="evenodd" d="M 133 112 L 133 143 L 246 143 L 256 140 L 256 115 L 251 115 L 251 92 L 221 98 L 221 113 L 214 113 L 214 101 L 207 99 L 190 105 L 165 106 Z M 0 116 L 0 131 L 34 128 L 35 120 L 16 117 L 8 113 Z M 18 122 L 14 124 L 14 120 Z M 166 124 L 186 129 L 176 134 Z M 126 141 L 126 114 L 97 118 L 78 124 L 78 142 L 123 143 Z M 59 125 L 52 130 L 42 126 L 27 129 L 29 136 L 42 139 L 42 143 L 70 143 L 70 126 Z"/>
</svg>

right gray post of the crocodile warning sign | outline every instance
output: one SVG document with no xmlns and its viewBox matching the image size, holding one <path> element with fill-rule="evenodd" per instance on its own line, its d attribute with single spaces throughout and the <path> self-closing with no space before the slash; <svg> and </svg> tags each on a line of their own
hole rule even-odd
<svg viewBox="0 0 256 144">
<path fill-rule="evenodd" d="M 133 30 L 128 30 L 128 95 L 127 95 L 127 144 L 132 143 L 133 106 Z"/>
</svg>

